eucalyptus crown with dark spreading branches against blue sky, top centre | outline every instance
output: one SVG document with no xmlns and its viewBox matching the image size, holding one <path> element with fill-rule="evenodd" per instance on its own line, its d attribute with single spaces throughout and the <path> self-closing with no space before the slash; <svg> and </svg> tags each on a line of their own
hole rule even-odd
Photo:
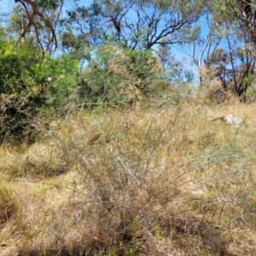
<svg viewBox="0 0 256 256">
<path fill-rule="evenodd" d="M 94 0 L 90 7 L 68 11 L 76 32 L 90 44 L 110 40 L 124 48 L 154 49 L 180 44 L 182 28 L 201 14 L 201 1 Z"/>
</svg>

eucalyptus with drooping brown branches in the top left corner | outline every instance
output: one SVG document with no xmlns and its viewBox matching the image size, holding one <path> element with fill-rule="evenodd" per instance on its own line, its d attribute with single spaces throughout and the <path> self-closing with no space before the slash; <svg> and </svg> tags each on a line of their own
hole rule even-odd
<svg viewBox="0 0 256 256">
<path fill-rule="evenodd" d="M 60 20 L 64 0 L 15 0 L 10 15 L 9 32 L 21 39 L 33 39 L 50 54 L 57 48 L 56 26 Z"/>
</svg>

